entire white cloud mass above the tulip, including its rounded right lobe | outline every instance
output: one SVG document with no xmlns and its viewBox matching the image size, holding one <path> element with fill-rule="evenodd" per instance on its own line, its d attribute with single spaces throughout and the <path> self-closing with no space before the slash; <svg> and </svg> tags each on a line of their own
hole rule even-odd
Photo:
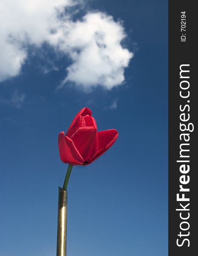
<svg viewBox="0 0 198 256">
<path fill-rule="evenodd" d="M 122 84 L 133 57 L 121 45 L 126 37 L 122 24 L 102 12 L 74 22 L 65 7 L 76 3 L 79 0 L 1 0 L 0 81 L 20 74 L 29 44 L 42 47 L 47 42 L 72 60 L 62 85 L 71 81 L 85 89 L 99 84 L 111 89 Z"/>
</svg>

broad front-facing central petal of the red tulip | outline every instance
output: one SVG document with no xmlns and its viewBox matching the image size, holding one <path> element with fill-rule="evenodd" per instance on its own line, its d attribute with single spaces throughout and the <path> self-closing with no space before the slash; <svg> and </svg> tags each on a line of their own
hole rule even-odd
<svg viewBox="0 0 198 256">
<path fill-rule="evenodd" d="M 78 128 L 75 134 L 71 136 L 71 140 L 74 142 L 84 162 L 91 156 L 96 133 L 95 126 L 86 126 Z"/>
</svg>

